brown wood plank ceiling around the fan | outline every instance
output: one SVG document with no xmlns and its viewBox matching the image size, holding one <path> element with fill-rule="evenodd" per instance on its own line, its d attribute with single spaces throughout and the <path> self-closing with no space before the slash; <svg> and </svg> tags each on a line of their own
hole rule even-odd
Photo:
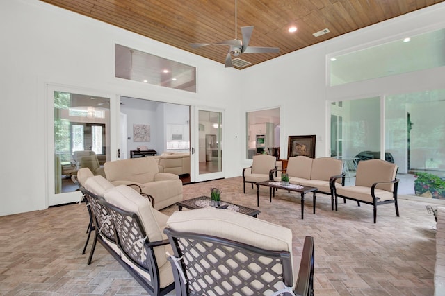
<svg viewBox="0 0 445 296">
<path fill-rule="evenodd" d="M 190 43 L 235 39 L 235 0 L 42 0 L 224 64 L 229 46 Z M 250 46 L 280 53 L 240 56 L 250 66 L 445 0 L 238 0 L 237 35 L 254 26 Z M 290 26 L 297 26 L 289 33 Z M 330 33 L 312 35 L 325 28 Z M 223 66 L 222 66 L 223 67 Z M 245 68 L 244 68 L 245 69 Z"/>
</svg>

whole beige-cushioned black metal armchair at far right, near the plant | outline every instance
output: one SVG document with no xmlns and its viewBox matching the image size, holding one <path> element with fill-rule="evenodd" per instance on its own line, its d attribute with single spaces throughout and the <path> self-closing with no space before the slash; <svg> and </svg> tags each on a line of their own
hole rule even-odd
<svg viewBox="0 0 445 296">
<path fill-rule="evenodd" d="M 396 178 L 398 166 L 382 159 L 362 160 L 357 166 L 355 186 L 337 186 L 331 182 L 335 196 L 335 210 L 337 211 L 338 198 L 355 200 L 373 206 L 374 223 L 377 222 L 377 206 L 394 203 L 396 216 L 398 213 L 397 189 L 399 180 Z"/>
</svg>

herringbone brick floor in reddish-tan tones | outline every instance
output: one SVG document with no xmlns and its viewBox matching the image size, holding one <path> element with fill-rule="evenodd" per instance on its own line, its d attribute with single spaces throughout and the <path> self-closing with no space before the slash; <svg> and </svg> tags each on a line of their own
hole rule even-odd
<svg viewBox="0 0 445 296">
<path fill-rule="evenodd" d="M 257 189 L 243 194 L 241 177 L 186 185 L 184 199 L 211 187 L 223 190 L 223 200 L 257 207 Z M 433 295 L 435 222 L 427 203 L 400 200 L 401 217 L 394 204 L 382 205 L 373 224 L 368 204 L 348 201 L 331 211 L 327 195 L 317 198 L 316 214 L 307 196 L 301 220 L 296 196 L 278 191 L 269 203 L 261 188 L 258 218 L 292 229 L 296 256 L 305 236 L 314 236 L 315 295 Z M 0 295 L 146 295 L 102 245 L 86 265 L 87 224 L 85 204 L 0 217 Z"/>
</svg>

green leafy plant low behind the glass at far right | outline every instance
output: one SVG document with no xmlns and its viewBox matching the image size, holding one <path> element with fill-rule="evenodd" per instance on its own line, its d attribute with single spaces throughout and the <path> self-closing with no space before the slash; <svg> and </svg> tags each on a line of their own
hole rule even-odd
<svg viewBox="0 0 445 296">
<path fill-rule="evenodd" d="M 426 198 L 445 199 L 445 180 L 432 173 L 416 173 L 414 192 Z"/>
</svg>

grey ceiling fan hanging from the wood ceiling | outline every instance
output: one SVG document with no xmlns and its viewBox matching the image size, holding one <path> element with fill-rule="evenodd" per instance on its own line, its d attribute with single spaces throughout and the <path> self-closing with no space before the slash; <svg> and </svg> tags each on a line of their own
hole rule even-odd
<svg viewBox="0 0 445 296">
<path fill-rule="evenodd" d="M 225 67 L 229 68 L 232 67 L 232 55 L 234 57 L 238 57 L 242 53 L 277 53 L 280 51 L 278 47 L 260 47 L 260 46 L 249 46 L 250 37 L 252 36 L 252 31 L 254 26 L 245 26 L 241 27 L 241 33 L 243 35 L 243 40 L 238 39 L 238 34 L 236 28 L 238 27 L 237 24 L 237 11 L 236 11 L 236 1 L 235 0 L 235 39 L 234 40 L 225 40 L 221 42 L 216 43 L 191 43 L 190 46 L 192 46 L 194 49 L 197 49 L 202 46 L 207 45 L 228 45 L 229 51 L 227 52 L 227 55 L 225 57 Z"/>
</svg>

